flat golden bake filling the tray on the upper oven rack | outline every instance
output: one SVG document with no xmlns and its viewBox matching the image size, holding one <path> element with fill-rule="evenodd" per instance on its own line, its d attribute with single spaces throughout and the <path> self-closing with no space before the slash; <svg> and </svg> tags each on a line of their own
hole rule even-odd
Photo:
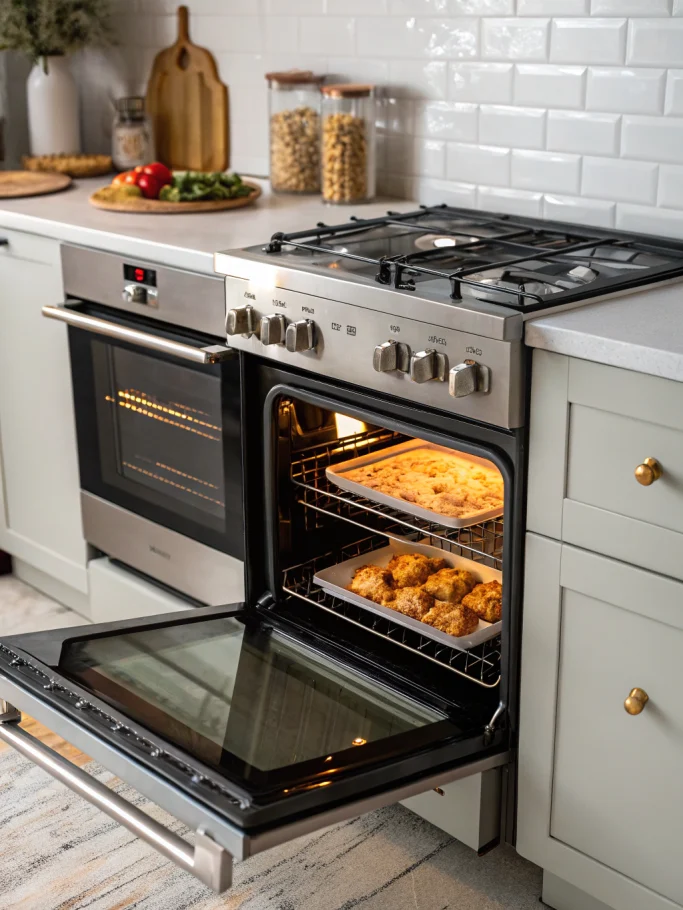
<svg viewBox="0 0 683 910">
<path fill-rule="evenodd" d="M 449 518 L 467 518 L 503 506 L 503 477 L 495 465 L 427 446 L 354 468 L 345 476 Z"/>
</svg>

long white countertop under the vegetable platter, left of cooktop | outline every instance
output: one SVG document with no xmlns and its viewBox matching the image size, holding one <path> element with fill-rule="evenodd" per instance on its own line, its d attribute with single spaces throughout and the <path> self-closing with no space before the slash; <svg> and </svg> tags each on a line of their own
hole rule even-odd
<svg viewBox="0 0 683 910">
<path fill-rule="evenodd" d="M 77 180 L 68 190 L 49 196 L 0 199 L 0 236 L 2 228 L 28 231 L 213 274 L 215 252 L 264 243 L 276 231 L 305 230 L 318 221 L 341 224 L 351 215 L 372 218 L 384 215 L 388 208 L 409 212 L 417 207 L 405 199 L 357 206 L 325 205 L 318 196 L 275 195 L 268 181 L 254 180 L 263 188 L 263 195 L 255 205 L 243 209 L 135 215 L 105 212 L 90 205 L 90 194 L 106 182 L 106 177 Z"/>
</svg>

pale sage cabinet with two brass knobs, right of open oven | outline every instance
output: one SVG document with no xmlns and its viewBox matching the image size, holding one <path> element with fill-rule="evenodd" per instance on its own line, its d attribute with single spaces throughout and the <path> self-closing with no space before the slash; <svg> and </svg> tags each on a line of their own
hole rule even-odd
<svg viewBox="0 0 683 910">
<path fill-rule="evenodd" d="M 531 401 L 517 849 L 556 910 L 673 910 L 683 385 L 536 351 Z"/>
</svg>

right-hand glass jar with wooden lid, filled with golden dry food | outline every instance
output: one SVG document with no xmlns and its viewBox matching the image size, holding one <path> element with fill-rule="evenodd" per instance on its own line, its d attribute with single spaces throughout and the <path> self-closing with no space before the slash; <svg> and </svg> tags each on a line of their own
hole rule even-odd
<svg viewBox="0 0 683 910">
<path fill-rule="evenodd" d="M 368 202 L 375 195 L 375 91 L 372 85 L 323 87 L 325 202 Z"/>
</svg>

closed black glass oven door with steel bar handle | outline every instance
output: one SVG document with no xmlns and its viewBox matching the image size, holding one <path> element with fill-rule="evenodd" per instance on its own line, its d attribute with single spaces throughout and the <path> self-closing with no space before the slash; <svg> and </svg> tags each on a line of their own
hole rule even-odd
<svg viewBox="0 0 683 910">
<path fill-rule="evenodd" d="M 86 497 L 242 560 L 235 353 L 215 339 L 94 305 L 52 309 L 69 325 Z"/>
</svg>

